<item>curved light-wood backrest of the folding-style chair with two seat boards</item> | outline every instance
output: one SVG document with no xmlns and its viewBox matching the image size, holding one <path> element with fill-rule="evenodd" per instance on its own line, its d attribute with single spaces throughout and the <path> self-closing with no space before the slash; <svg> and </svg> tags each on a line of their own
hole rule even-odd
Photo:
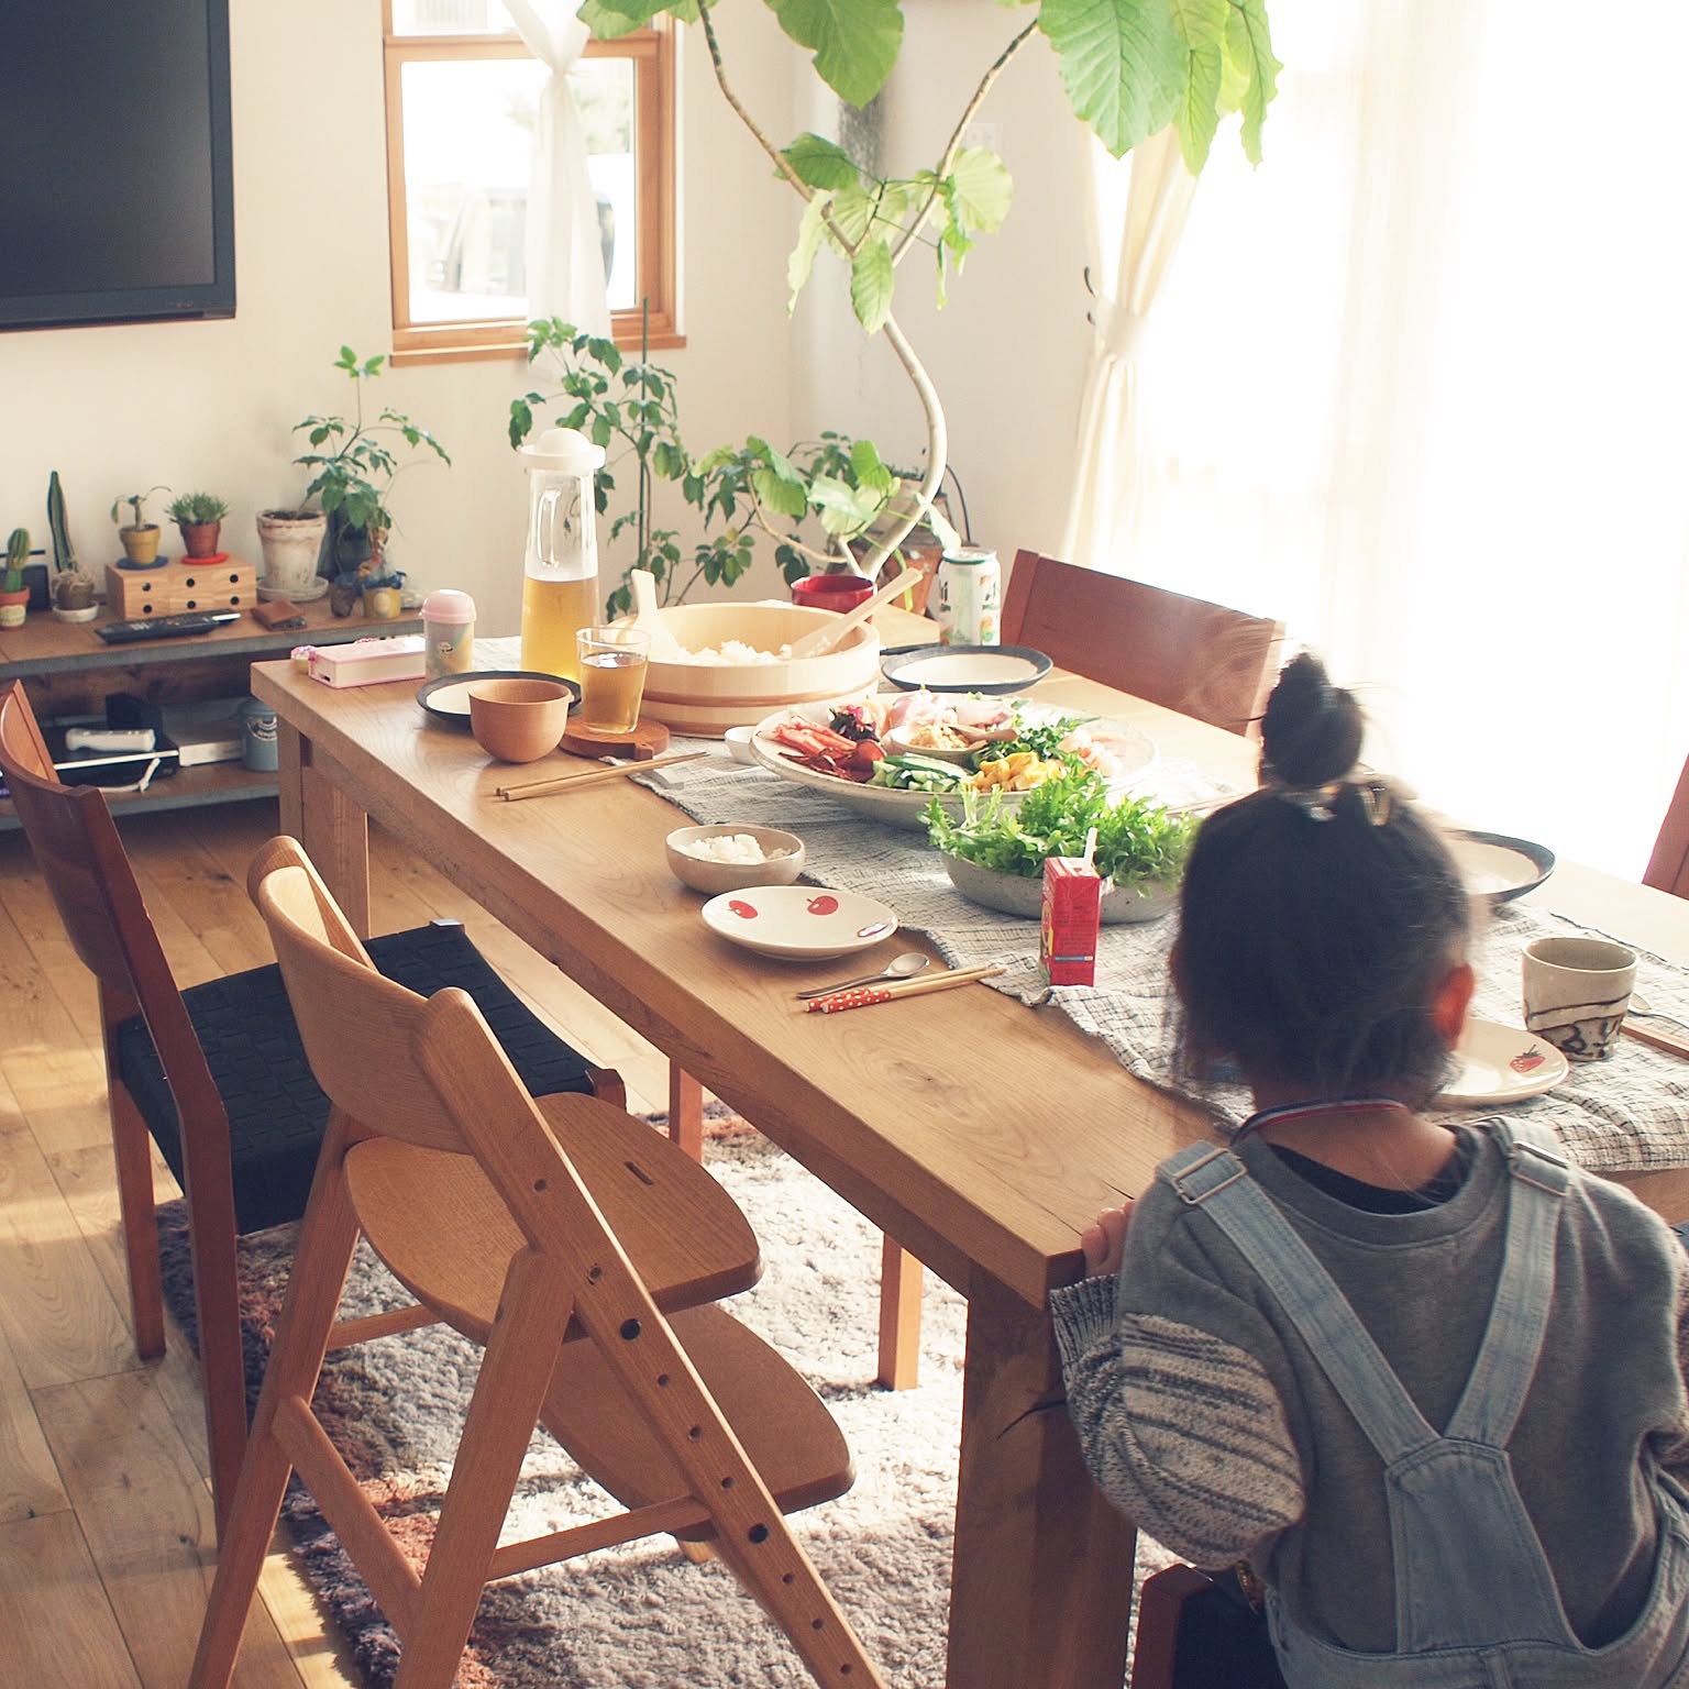
<svg viewBox="0 0 1689 1689">
<path fill-rule="evenodd" d="M 247 888 L 270 929 L 311 1071 L 334 1108 L 365 1130 L 464 1152 L 463 1135 L 417 1067 L 414 1045 L 429 998 L 375 969 L 296 839 L 270 839 L 247 870 Z M 513 1069 L 510 1078 L 527 1101 Z"/>
</svg>

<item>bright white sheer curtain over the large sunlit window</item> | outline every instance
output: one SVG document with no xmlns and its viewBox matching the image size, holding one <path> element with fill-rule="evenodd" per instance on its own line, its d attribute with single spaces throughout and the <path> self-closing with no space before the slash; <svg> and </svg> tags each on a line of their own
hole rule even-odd
<svg viewBox="0 0 1689 1689">
<path fill-rule="evenodd" d="M 1569 0 L 1270 10 L 1267 160 L 1216 144 L 1076 556 L 1282 615 L 1375 762 L 1635 877 L 1689 752 L 1689 10 L 1620 83 Z"/>
</svg>

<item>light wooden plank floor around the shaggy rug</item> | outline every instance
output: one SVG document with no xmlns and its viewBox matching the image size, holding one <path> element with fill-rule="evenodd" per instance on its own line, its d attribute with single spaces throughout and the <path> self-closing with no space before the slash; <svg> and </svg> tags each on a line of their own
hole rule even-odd
<svg viewBox="0 0 1689 1689">
<path fill-rule="evenodd" d="M 274 802 L 130 816 L 123 841 L 181 983 L 270 961 L 247 863 Z M 383 836 L 380 932 L 451 914 L 569 1040 L 664 1106 L 667 1064 Z M 157 1162 L 160 1196 L 174 1196 Z M 20 833 L 0 834 L 0 1682 L 181 1689 L 215 1566 L 198 1371 L 128 1328 L 93 985 Z M 285 1547 L 247 1627 L 242 1689 L 356 1684 Z"/>
</svg>

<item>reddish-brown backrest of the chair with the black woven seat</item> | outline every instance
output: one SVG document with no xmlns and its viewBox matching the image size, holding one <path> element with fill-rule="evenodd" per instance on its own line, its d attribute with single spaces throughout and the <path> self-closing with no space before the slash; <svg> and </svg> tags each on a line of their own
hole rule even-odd
<svg viewBox="0 0 1689 1689">
<path fill-rule="evenodd" d="M 0 772 L 71 946 L 100 983 L 108 1037 L 138 1010 L 177 1110 L 184 1118 L 218 1118 L 221 1094 L 105 792 L 64 785 L 56 777 L 22 681 L 0 689 Z"/>
</svg>

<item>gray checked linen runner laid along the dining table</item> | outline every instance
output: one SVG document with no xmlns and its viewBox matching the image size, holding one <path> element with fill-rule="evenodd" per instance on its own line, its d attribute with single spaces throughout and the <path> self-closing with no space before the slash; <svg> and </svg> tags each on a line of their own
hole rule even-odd
<svg viewBox="0 0 1689 1689">
<path fill-rule="evenodd" d="M 963 899 L 924 831 L 883 826 L 826 792 L 733 762 L 718 740 L 677 738 L 674 748 L 716 755 L 637 779 L 692 821 L 797 833 L 807 851 L 806 880 L 829 890 L 865 892 L 890 904 L 900 927 L 926 936 L 951 966 L 1002 966 L 1005 973 L 988 981 L 995 990 L 1020 998 L 1034 1013 L 1066 1015 L 1100 1039 L 1135 1078 L 1204 1106 L 1219 1130 L 1248 1115 L 1250 1100 L 1241 1086 L 1198 1089 L 1174 1069 L 1167 980 L 1172 917 L 1103 927 L 1096 985 L 1052 988 L 1039 968 L 1037 922 Z M 1198 801 L 1218 790 L 1192 765 L 1174 760 L 1157 763 L 1145 784 L 1164 802 Z M 1589 929 L 1544 909 L 1500 905 L 1474 941 L 1478 991 L 1473 1013 L 1520 1025 L 1520 951 L 1547 934 L 1583 931 Z M 1638 934 L 1611 936 L 1638 951 L 1637 988 L 1654 1007 L 1689 1022 L 1689 973 L 1650 954 Z M 860 971 L 851 969 L 848 959 L 833 966 L 839 968 L 838 978 Z M 794 971 L 794 988 L 826 980 L 824 968 L 812 976 L 806 971 L 801 981 Z M 1608 1061 L 1572 1062 L 1571 1076 L 1556 1089 L 1508 1106 L 1551 1127 L 1567 1150 L 1594 1170 L 1689 1167 L 1689 1061 L 1635 1039 L 1621 1039 Z M 1442 1118 L 1481 1113 L 1444 1111 Z"/>
</svg>

